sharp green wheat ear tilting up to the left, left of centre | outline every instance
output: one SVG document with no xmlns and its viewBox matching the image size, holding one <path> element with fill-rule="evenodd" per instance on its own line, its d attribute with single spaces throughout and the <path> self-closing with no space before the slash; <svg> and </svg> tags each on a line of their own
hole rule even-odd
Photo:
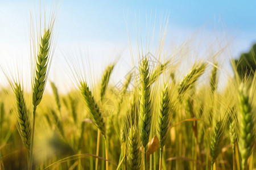
<svg viewBox="0 0 256 170">
<path fill-rule="evenodd" d="M 82 93 L 82 96 L 84 97 L 86 107 L 88 108 L 90 118 L 94 122 L 94 124 L 97 126 L 98 129 L 100 129 L 101 134 L 105 137 L 105 122 L 102 118 L 100 108 L 98 107 L 97 103 L 94 100 L 94 97 L 92 96 L 92 92 L 90 91 L 88 85 L 86 82 L 80 82 L 80 91 Z"/>
</svg>

